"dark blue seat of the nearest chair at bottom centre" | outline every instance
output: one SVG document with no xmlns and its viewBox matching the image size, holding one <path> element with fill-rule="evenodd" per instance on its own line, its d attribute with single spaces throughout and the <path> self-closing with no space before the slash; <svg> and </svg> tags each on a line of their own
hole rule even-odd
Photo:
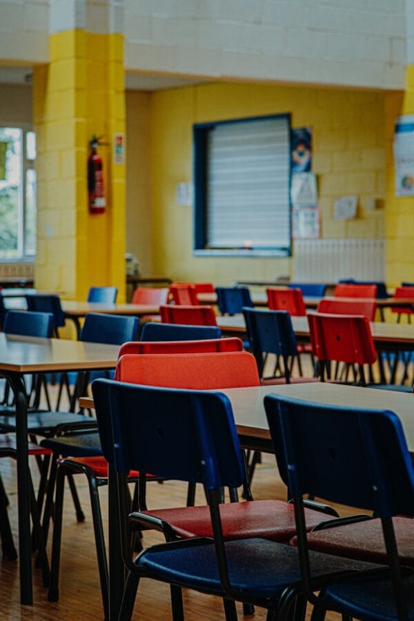
<svg viewBox="0 0 414 621">
<path fill-rule="evenodd" d="M 182 542 L 145 551 L 136 564 L 150 577 L 175 582 L 207 593 L 222 593 L 214 544 L 186 546 Z M 175 546 L 175 547 L 174 547 Z M 278 598 L 284 589 L 300 580 L 297 550 L 265 539 L 230 541 L 225 544 L 228 574 L 233 588 L 254 598 Z M 373 564 L 313 552 L 311 568 L 315 576 L 352 569 L 373 569 Z M 252 571 L 254 567 L 254 571 Z"/>
</svg>

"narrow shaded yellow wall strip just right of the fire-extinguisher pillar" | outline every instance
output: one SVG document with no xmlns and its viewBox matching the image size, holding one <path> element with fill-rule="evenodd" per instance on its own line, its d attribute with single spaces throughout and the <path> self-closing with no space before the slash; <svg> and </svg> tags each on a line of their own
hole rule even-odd
<svg viewBox="0 0 414 621">
<path fill-rule="evenodd" d="M 126 92 L 126 251 L 144 276 L 152 275 L 150 101 L 150 92 Z"/>
</svg>

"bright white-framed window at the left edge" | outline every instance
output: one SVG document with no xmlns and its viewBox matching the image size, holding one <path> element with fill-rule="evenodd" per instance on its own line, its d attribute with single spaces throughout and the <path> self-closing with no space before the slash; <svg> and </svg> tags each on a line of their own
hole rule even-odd
<svg viewBox="0 0 414 621">
<path fill-rule="evenodd" d="M 0 261 L 36 254 L 36 135 L 0 127 Z"/>
</svg>

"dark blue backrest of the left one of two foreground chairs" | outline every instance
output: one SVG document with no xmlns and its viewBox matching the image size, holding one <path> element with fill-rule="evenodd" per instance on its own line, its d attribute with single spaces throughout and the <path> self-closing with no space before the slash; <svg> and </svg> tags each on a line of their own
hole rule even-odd
<svg viewBox="0 0 414 621">
<path fill-rule="evenodd" d="M 206 489 L 244 481 L 233 411 L 221 393 L 96 380 L 92 384 L 106 460 Z"/>
</svg>

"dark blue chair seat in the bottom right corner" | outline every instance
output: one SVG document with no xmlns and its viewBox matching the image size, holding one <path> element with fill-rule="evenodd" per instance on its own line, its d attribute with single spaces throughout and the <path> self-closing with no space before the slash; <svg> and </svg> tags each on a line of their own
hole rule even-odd
<svg viewBox="0 0 414 621">
<path fill-rule="evenodd" d="M 414 575 L 404 580 L 408 606 L 408 620 L 414 620 Z M 341 612 L 364 621 L 397 621 L 393 588 L 391 581 L 355 579 L 333 584 L 326 589 L 323 602 L 335 609 L 340 605 Z"/>
</svg>

